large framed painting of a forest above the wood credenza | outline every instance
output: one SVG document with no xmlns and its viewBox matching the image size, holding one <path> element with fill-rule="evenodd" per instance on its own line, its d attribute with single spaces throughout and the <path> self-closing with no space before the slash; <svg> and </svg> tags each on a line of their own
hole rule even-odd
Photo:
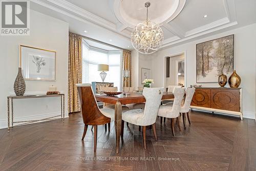
<svg viewBox="0 0 256 171">
<path fill-rule="evenodd" d="M 234 70 L 234 35 L 197 44 L 197 82 L 218 82 Z"/>
</svg>

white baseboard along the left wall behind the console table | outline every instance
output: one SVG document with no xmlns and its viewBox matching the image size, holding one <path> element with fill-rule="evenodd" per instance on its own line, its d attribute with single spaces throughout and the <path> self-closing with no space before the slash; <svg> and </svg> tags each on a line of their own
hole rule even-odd
<svg viewBox="0 0 256 171">
<path fill-rule="evenodd" d="M 40 119 L 49 118 L 49 117 L 53 117 L 53 116 L 60 115 L 60 114 L 61 114 L 60 112 L 54 112 L 54 113 L 48 113 L 48 114 L 43 114 L 43 115 L 25 116 L 25 117 L 14 118 L 14 121 L 40 120 Z M 65 118 L 68 118 L 68 117 L 69 117 L 69 112 L 65 111 Z M 52 119 L 57 119 L 57 118 L 61 118 L 61 117 L 58 116 L 58 117 L 54 117 Z M 40 122 L 44 122 L 44 121 L 40 121 Z M 23 122 L 23 123 L 25 123 L 25 122 Z M 17 124 L 19 124 L 19 123 L 17 123 Z M 10 125 L 11 125 L 11 120 L 10 120 Z M 13 125 L 15 125 L 15 124 L 13 124 Z M 0 120 L 0 129 L 6 129 L 7 127 L 8 127 L 7 119 Z"/>
</svg>

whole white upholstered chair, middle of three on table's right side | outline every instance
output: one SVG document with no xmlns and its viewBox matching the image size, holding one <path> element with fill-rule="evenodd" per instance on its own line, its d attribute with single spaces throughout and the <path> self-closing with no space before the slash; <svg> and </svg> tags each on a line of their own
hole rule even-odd
<svg viewBox="0 0 256 171">
<path fill-rule="evenodd" d="M 160 117 L 165 117 L 165 118 L 170 118 L 170 123 L 172 126 L 172 131 L 173 131 L 173 136 L 175 136 L 174 133 L 174 118 L 178 119 L 178 127 L 179 131 L 180 129 L 180 122 L 179 122 L 179 115 L 180 115 L 180 109 L 181 109 L 181 102 L 184 98 L 185 94 L 185 89 L 182 88 L 175 88 L 173 90 L 174 94 L 174 102 L 173 106 L 168 106 L 168 105 L 161 105 L 158 111 L 158 116 Z"/>
</svg>

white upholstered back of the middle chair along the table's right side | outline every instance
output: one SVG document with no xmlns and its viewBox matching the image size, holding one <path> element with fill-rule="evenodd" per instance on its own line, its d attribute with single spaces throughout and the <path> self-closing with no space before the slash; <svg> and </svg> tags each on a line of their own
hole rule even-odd
<svg viewBox="0 0 256 171">
<path fill-rule="evenodd" d="M 184 98 L 185 89 L 175 88 L 173 91 L 174 94 L 174 103 L 172 108 L 172 116 L 178 117 L 180 114 L 181 102 Z"/>
</svg>

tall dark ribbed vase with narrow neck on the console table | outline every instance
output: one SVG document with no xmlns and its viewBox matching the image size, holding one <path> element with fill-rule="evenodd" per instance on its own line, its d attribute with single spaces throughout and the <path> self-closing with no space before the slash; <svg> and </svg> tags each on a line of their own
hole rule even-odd
<svg viewBox="0 0 256 171">
<path fill-rule="evenodd" d="M 18 75 L 13 86 L 16 96 L 23 96 L 26 90 L 25 80 L 22 75 L 22 68 L 18 68 Z"/>
</svg>

